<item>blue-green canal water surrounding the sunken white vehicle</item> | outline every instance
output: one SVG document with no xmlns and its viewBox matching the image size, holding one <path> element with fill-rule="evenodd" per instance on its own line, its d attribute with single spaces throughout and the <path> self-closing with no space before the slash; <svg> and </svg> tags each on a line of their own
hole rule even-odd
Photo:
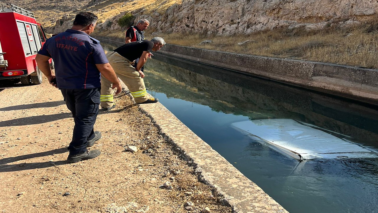
<svg viewBox="0 0 378 213">
<path fill-rule="evenodd" d="M 149 93 L 290 213 L 378 212 L 378 159 L 299 163 L 231 125 L 257 119 L 294 119 L 378 150 L 375 108 L 154 55 L 144 68 Z"/>
</svg>

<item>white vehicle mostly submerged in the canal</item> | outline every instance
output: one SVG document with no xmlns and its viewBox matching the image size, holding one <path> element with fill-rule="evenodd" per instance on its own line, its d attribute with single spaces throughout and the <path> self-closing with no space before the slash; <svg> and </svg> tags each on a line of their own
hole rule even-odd
<svg viewBox="0 0 378 213">
<path fill-rule="evenodd" d="M 257 142 L 299 161 L 378 158 L 378 150 L 345 139 L 349 136 L 293 119 L 262 119 L 231 125 Z"/>
</svg>

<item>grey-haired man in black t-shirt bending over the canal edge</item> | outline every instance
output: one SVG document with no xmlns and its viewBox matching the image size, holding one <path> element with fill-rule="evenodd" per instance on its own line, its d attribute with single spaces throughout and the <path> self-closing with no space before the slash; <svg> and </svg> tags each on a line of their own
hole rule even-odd
<svg viewBox="0 0 378 213">
<path fill-rule="evenodd" d="M 158 100 L 150 96 L 144 86 L 144 73 L 141 71 L 151 51 L 158 51 L 165 45 L 163 38 L 155 37 L 151 41 L 143 40 L 124 44 L 106 54 L 117 76 L 129 88 L 136 103 L 156 103 Z M 136 68 L 135 60 L 139 58 Z M 101 79 L 101 107 L 107 111 L 114 108 L 112 83 Z"/>
</svg>

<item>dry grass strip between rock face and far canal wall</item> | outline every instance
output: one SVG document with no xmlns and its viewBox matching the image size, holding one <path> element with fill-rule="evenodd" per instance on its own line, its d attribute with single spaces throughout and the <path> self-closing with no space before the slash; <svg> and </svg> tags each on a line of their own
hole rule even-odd
<svg viewBox="0 0 378 213">
<path fill-rule="evenodd" d="M 178 44 L 250 55 L 321 61 L 350 66 L 378 68 L 378 24 L 358 28 L 329 27 L 319 31 L 275 29 L 249 36 L 212 36 L 189 34 L 160 35 L 169 44 Z M 147 37 L 152 37 L 147 34 Z M 212 40 L 198 45 L 203 40 Z M 245 45 L 238 42 L 252 40 Z"/>
</svg>

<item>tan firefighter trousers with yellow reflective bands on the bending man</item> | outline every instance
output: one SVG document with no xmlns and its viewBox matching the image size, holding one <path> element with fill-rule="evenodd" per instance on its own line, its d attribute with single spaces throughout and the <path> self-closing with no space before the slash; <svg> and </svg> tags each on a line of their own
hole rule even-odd
<svg viewBox="0 0 378 213">
<path fill-rule="evenodd" d="M 106 54 L 110 65 L 112 65 L 116 75 L 129 88 L 136 103 L 145 102 L 150 98 L 146 91 L 143 78 L 139 77 L 139 72 L 132 66 L 133 62 L 127 60 L 116 52 L 110 51 Z M 109 108 L 113 106 L 112 82 L 106 78 L 101 78 L 101 107 Z"/>
</svg>

